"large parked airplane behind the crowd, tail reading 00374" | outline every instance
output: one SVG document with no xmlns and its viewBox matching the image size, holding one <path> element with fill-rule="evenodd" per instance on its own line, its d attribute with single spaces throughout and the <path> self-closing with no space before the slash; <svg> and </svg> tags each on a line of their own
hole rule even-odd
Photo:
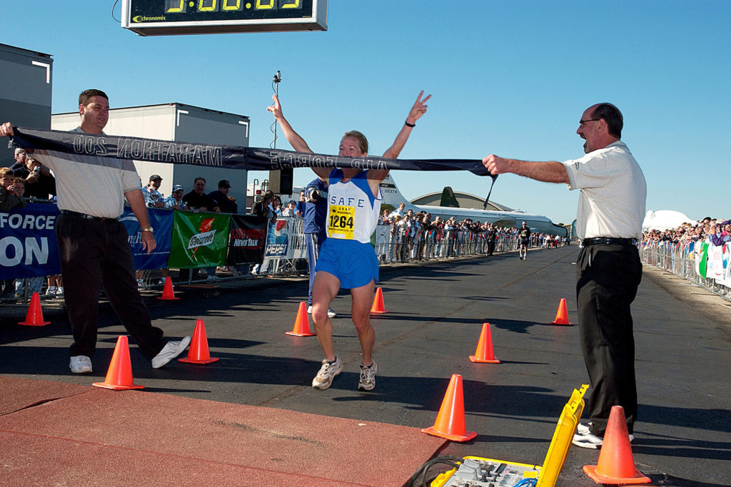
<svg viewBox="0 0 731 487">
<path fill-rule="evenodd" d="M 446 220 L 450 217 L 455 217 L 458 221 L 462 221 L 465 218 L 470 218 L 472 221 L 479 221 L 480 223 L 493 223 L 496 226 L 509 226 L 514 228 L 520 228 L 523 221 L 526 222 L 529 229 L 533 233 L 551 234 L 558 235 L 560 237 L 568 237 L 569 231 L 563 226 L 556 225 L 550 218 L 543 215 L 536 215 L 534 213 L 526 213 L 522 211 L 492 211 L 492 210 L 475 210 L 473 208 L 459 208 L 459 207 L 437 207 L 424 204 L 412 204 L 409 200 L 404 198 L 401 191 L 398 191 L 393 177 L 389 174 L 385 180 L 381 183 L 381 195 L 383 200 L 381 207 L 390 211 L 398 208 L 398 205 L 404 203 L 406 210 L 414 210 L 414 212 L 428 212 L 431 214 L 433 221 L 436 215 Z"/>
</svg>

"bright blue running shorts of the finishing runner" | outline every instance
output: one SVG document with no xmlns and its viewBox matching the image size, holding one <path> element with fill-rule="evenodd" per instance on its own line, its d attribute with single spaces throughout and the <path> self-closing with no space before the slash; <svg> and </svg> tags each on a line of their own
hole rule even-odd
<svg viewBox="0 0 731 487">
<path fill-rule="evenodd" d="M 328 238 L 322 244 L 315 272 L 325 271 L 340 280 L 343 289 L 378 282 L 378 258 L 373 245 L 357 240 Z"/>
</svg>

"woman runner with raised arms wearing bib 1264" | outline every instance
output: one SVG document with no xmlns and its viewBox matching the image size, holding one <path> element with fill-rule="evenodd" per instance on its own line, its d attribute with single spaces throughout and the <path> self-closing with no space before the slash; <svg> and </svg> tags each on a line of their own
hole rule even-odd
<svg viewBox="0 0 731 487">
<path fill-rule="evenodd" d="M 393 145 L 383 158 L 398 158 L 409 139 L 416 121 L 426 112 L 424 92 L 417 96 L 409 110 L 404 126 L 398 132 Z M 272 96 L 274 104 L 267 107 L 284 132 L 292 147 L 302 153 L 312 153 L 307 142 L 292 129 L 281 111 L 279 99 Z M 338 156 L 364 158 L 368 155 L 368 140 L 359 131 L 349 131 L 340 141 Z M 371 234 L 376 229 L 381 210 L 380 184 L 388 175 L 387 169 L 328 169 L 313 167 L 323 180 L 329 180 L 327 191 L 327 239 L 322 244 L 315 280 L 312 287 L 312 320 L 317 340 L 325 354 L 322 367 L 312 380 L 312 387 L 327 389 L 343 369 L 333 346 L 333 323 L 327 309 L 341 288 L 350 289 L 352 296 L 351 316 L 358 334 L 363 362 L 360 364 L 358 389 L 370 391 L 376 386 L 377 365 L 372 352 L 376 334 L 371 327 L 371 304 L 378 281 L 378 258 L 371 245 Z"/>
</svg>

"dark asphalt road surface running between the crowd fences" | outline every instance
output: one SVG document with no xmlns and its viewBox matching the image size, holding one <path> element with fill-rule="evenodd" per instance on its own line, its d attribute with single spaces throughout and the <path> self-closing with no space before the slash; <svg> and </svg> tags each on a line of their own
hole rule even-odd
<svg viewBox="0 0 731 487">
<path fill-rule="evenodd" d="M 192 334 L 204 319 L 211 356 L 220 361 L 154 370 L 131 345 L 132 369 L 145 391 L 422 428 L 433 425 L 450 377 L 459 374 L 466 429 L 477 438 L 450 442 L 442 454 L 542 464 L 561 408 L 588 380 L 577 326 L 550 325 L 561 298 L 576 321 L 576 256 L 574 246 L 534 250 L 526 261 L 512 253 L 382 269 L 389 312 L 372 319 L 379 373 L 370 393 L 356 391 L 360 346 L 344 293 L 333 303 L 344 371 L 327 391 L 310 387 L 322 359 L 317 339 L 284 334 L 306 299 L 305 280 L 259 279 L 215 292 L 176 290 L 176 302 L 149 299 L 167 337 Z M 654 485 L 731 484 L 730 312 L 718 299 L 695 299 L 705 294 L 647 268 L 633 306 L 640 410 L 632 452 Z M 100 310 L 91 375 L 69 372 L 66 317 L 51 307 L 44 312 L 52 323 L 36 328 L 17 326 L 2 311 L 0 374 L 103 380 L 124 333 L 109 307 Z M 501 364 L 468 359 L 485 322 Z M 597 459 L 597 450 L 571 448 L 558 485 L 595 485 L 581 467 Z"/>
</svg>

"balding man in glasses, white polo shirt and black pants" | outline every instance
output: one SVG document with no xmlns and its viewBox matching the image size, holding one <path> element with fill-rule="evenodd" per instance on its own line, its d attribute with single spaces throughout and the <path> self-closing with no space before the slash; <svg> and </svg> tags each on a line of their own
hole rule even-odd
<svg viewBox="0 0 731 487">
<path fill-rule="evenodd" d="M 642 278 L 637 239 L 642 238 L 647 186 L 624 142 L 622 114 L 612 104 L 586 109 L 576 133 L 585 156 L 564 162 L 518 161 L 494 154 L 482 160 L 491 174 L 513 174 L 580 190 L 576 262 L 577 310 L 584 363 L 591 381 L 589 416 L 573 443 L 601 448 L 612 406 L 624 408 L 630 441 L 637 417 L 635 338 L 630 304 Z"/>
</svg>

